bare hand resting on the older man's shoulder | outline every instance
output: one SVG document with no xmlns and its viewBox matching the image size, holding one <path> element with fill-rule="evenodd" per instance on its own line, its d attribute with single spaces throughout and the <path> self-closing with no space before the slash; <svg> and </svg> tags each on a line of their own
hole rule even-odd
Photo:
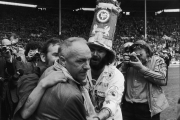
<svg viewBox="0 0 180 120">
<path fill-rule="evenodd" d="M 56 85 L 59 82 L 66 82 L 67 78 L 64 76 L 62 71 L 53 71 L 48 76 L 43 78 L 39 84 L 42 85 L 43 88 L 48 88 Z"/>
</svg>

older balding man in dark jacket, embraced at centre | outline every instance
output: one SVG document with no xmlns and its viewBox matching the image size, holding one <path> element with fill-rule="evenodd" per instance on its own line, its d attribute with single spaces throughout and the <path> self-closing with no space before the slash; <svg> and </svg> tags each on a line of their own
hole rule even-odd
<svg viewBox="0 0 180 120">
<path fill-rule="evenodd" d="M 91 51 L 86 40 L 77 37 L 65 40 L 59 48 L 60 60 L 48 68 L 41 79 L 57 72 L 63 73 L 67 81 L 48 88 L 35 113 L 28 120 L 86 120 L 81 86 L 90 69 L 90 58 Z M 37 89 L 41 89 L 41 84 L 38 85 Z M 27 102 L 31 102 L 31 99 Z"/>
</svg>

